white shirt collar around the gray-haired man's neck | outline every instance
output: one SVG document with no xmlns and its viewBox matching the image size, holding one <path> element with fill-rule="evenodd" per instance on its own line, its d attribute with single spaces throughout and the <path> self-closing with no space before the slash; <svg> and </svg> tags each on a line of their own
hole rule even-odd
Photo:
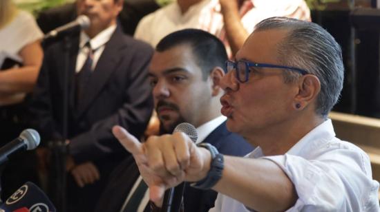
<svg viewBox="0 0 380 212">
<path fill-rule="evenodd" d="M 306 151 L 307 149 L 315 149 L 321 143 L 327 142 L 334 136 L 334 127 L 332 126 L 331 119 L 328 118 L 323 123 L 321 123 L 321 125 L 318 125 L 308 134 L 303 136 L 303 138 L 301 138 L 301 140 L 299 140 L 296 145 L 287 151 L 287 154 L 302 156 L 303 152 L 310 152 Z M 254 151 L 248 155 L 249 158 L 260 158 L 263 156 L 263 150 L 260 147 L 254 149 Z"/>
</svg>

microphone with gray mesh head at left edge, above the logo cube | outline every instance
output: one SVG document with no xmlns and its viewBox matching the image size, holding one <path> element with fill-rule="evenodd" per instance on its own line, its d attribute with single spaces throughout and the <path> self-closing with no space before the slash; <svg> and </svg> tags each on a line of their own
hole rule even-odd
<svg viewBox="0 0 380 212">
<path fill-rule="evenodd" d="M 25 129 L 21 132 L 19 138 L 8 142 L 0 149 L 0 165 L 8 160 L 10 154 L 19 150 L 35 149 L 39 145 L 39 134 L 34 129 Z"/>
</svg>

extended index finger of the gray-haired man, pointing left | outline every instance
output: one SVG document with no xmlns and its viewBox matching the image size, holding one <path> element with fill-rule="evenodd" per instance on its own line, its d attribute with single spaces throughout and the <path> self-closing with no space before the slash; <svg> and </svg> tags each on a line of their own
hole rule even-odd
<svg viewBox="0 0 380 212">
<path fill-rule="evenodd" d="M 135 136 L 132 136 L 129 134 L 126 129 L 120 126 L 114 126 L 112 128 L 113 136 L 119 140 L 119 142 L 123 145 L 123 147 L 132 153 L 133 155 L 141 154 L 142 151 L 142 144 L 135 138 Z"/>
</svg>

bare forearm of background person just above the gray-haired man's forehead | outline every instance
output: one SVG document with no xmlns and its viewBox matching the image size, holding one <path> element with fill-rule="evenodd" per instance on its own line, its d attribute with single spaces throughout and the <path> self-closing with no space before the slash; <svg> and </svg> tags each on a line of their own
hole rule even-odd
<svg viewBox="0 0 380 212">
<path fill-rule="evenodd" d="M 243 23 L 240 21 L 238 8 L 222 8 L 222 14 L 225 22 L 227 39 L 231 47 L 232 55 L 234 56 L 243 46 L 249 34 L 247 30 L 245 30 Z"/>
</svg>

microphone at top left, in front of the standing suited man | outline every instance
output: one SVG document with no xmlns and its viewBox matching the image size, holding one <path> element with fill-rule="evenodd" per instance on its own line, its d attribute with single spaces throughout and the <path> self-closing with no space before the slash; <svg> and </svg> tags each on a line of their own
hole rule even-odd
<svg viewBox="0 0 380 212">
<path fill-rule="evenodd" d="M 62 32 L 67 32 L 70 30 L 73 30 L 75 28 L 80 28 L 82 30 L 85 30 L 88 28 L 91 24 L 90 19 L 86 17 L 84 14 L 79 15 L 77 19 L 74 21 L 71 21 L 70 23 L 66 23 L 65 25 L 60 26 L 59 28 L 56 28 L 55 30 L 51 30 L 47 34 L 45 34 L 44 39 L 51 39 L 55 38 L 58 34 L 61 34 Z"/>
</svg>

